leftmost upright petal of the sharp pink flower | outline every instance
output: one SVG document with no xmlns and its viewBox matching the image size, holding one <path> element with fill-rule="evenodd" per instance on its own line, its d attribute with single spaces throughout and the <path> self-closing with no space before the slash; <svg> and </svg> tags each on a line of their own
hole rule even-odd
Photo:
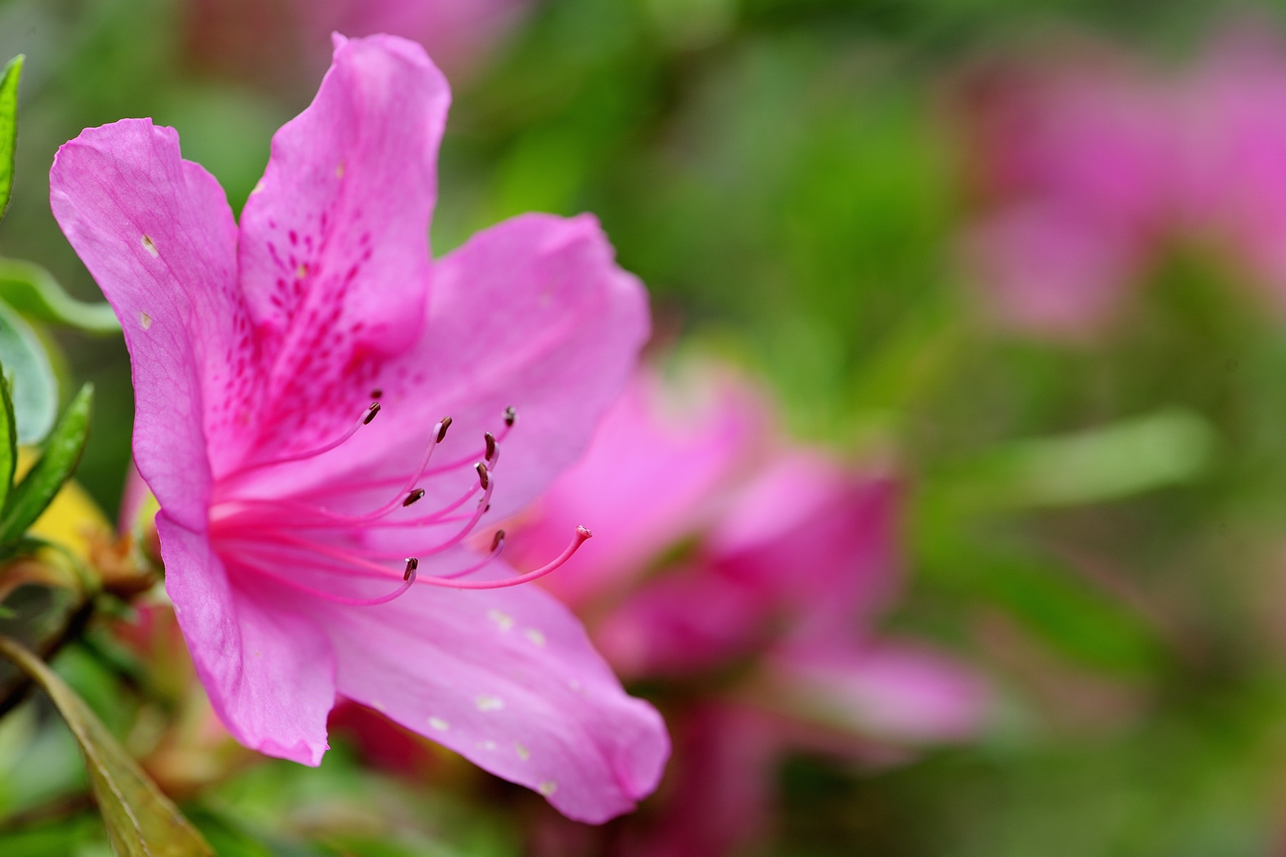
<svg viewBox="0 0 1286 857">
<path fill-rule="evenodd" d="M 150 119 L 85 130 L 58 150 L 49 184 L 54 217 L 125 329 L 139 470 L 175 520 L 203 528 L 203 432 L 244 415 L 253 348 L 224 191 Z"/>
</svg>

